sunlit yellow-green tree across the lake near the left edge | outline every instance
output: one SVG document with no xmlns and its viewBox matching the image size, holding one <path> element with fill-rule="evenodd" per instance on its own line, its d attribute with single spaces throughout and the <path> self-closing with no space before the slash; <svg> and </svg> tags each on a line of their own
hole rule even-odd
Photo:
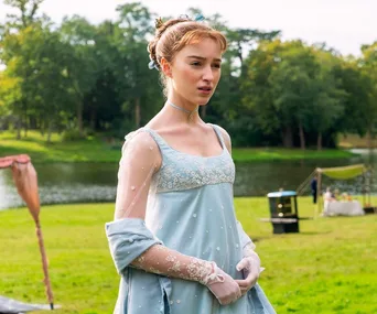
<svg viewBox="0 0 377 314">
<path fill-rule="evenodd" d="M 12 85 L 7 88 L 11 112 L 25 127 L 34 117 L 49 129 L 50 141 L 53 123 L 64 110 L 67 80 L 64 77 L 64 45 L 56 32 L 34 23 L 3 41 L 3 58 L 7 63 L 4 76 Z M 17 97 L 15 97 L 17 96 Z"/>
</svg>

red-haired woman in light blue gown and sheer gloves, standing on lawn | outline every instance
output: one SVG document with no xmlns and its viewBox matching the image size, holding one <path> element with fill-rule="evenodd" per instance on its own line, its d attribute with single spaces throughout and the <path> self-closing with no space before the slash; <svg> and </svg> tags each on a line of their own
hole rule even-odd
<svg viewBox="0 0 377 314">
<path fill-rule="evenodd" d="M 202 22 L 157 20 L 150 68 L 161 72 L 166 102 L 122 149 L 115 221 L 106 225 L 121 274 L 115 313 L 274 313 L 235 217 L 229 136 L 197 112 L 225 50 Z"/>
</svg>

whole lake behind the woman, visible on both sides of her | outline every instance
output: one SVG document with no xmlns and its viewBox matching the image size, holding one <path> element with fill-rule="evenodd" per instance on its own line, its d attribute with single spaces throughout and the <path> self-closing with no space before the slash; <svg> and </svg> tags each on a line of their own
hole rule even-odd
<svg viewBox="0 0 377 314">
<path fill-rule="evenodd" d="M 283 161 L 236 164 L 236 196 L 266 195 L 268 192 L 297 190 L 317 166 L 341 166 L 363 162 L 365 158 L 327 161 Z M 42 204 L 114 202 L 118 163 L 34 164 L 39 175 Z M 331 185 L 351 194 L 362 192 L 362 178 L 331 181 Z M 375 180 L 375 182 L 377 182 Z M 309 191 L 308 191 L 309 192 Z M 10 170 L 0 171 L 0 209 L 24 206 L 17 194 Z"/>
</svg>

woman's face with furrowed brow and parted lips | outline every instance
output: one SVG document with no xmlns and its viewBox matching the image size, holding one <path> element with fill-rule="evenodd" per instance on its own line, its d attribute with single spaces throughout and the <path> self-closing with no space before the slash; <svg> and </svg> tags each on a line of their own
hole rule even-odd
<svg viewBox="0 0 377 314">
<path fill-rule="evenodd" d="M 173 99 L 193 105 L 206 105 L 220 78 L 222 51 L 219 44 L 205 39 L 186 45 L 170 65 Z"/>
</svg>

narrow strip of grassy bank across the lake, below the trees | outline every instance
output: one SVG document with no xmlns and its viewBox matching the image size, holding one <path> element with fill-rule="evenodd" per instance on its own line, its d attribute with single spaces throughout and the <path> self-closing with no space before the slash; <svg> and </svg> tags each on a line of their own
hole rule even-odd
<svg viewBox="0 0 377 314">
<path fill-rule="evenodd" d="M 44 162 L 118 162 L 121 141 L 109 143 L 99 139 L 62 142 L 57 134 L 47 144 L 39 132 L 30 131 L 28 138 L 15 140 L 14 133 L 0 132 L 0 156 L 26 153 L 34 163 Z M 249 148 L 233 150 L 236 162 L 303 160 L 303 159 L 342 159 L 352 154 L 345 150 L 305 150 L 279 148 Z"/>
</svg>

